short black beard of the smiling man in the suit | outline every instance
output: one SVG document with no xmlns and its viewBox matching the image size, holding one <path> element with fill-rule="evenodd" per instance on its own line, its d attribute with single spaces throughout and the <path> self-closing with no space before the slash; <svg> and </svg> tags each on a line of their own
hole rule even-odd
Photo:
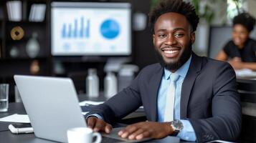
<svg viewBox="0 0 256 143">
<path fill-rule="evenodd" d="M 189 42 L 189 47 L 187 49 L 184 49 L 184 52 L 181 54 L 180 59 L 176 61 L 175 63 L 168 64 L 163 60 L 163 56 L 160 54 L 159 51 L 156 50 L 156 56 L 164 68 L 168 69 L 169 71 L 176 71 L 179 69 L 183 64 L 186 63 L 186 61 L 189 59 L 191 56 L 191 51 L 192 51 L 192 44 Z"/>
</svg>

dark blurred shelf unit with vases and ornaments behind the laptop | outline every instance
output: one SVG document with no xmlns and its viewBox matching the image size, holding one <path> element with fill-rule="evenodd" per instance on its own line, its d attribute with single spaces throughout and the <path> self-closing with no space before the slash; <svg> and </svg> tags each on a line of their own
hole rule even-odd
<svg viewBox="0 0 256 143">
<path fill-rule="evenodd" d="M 49 45 L 49 8 L 52 0 L 22 0 L 22 6 L 19 7 L 22 11 L 22 21 L 9 21 L 6 5 L 7 1 L 12 0 L 0 0 L 0 82 L 7 82 L 10 84 L 9 97 L 11 100 L 11 98 L 14 97 L 14 74 L 36 74 L 40 76 L 49 76 L 52 74 L 52 56 L 50 54 Z M 46 4 L 44 19 L 42 19 L 43 21 L 29 21 L 29 14 L 30 11 L 32 11 L 33 4 Z M 11 8 L 11 10 L 12 9 L 13 8 Z M 37 14 L 41 15 L 44 13 L 34 11 L 33 15 L 36 16 Z M 22 37 L 20 40 L 13 40 L 11 38 L 11 29 L 15 26 L 21 26 L 23 29 L 23 31 L 19 28 L 12 31 L 14 32 L 12 33 L 13 38 L 20 39 Z M 17 35 L 18 32 L 20 35 Z M 32 34 L 34 32 L 37 32 L 36 39 L 40 49 L 35 58 L 30 58 L 28 56 L 30 54 L 27 54 L 26 47 L 29 39 L 32 39 Z M 24 35 L 22 36 L 22 34 Z M 14 48 L 14 46 L 16 48 Z M 33 71 L 36 69 L 33 69 L 32 67 L 37 65 L 39 65 L 39 71 Z"/>
</svg>

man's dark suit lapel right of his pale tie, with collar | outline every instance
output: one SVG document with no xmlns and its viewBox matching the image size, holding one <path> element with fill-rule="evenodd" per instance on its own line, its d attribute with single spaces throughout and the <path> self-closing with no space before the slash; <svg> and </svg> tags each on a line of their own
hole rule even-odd
<svg viewBox="0 0 256 143">
<path fill-rule="evenodd" d="M 187 107 L 189 104 L 189 97 L 191 94 L 191 89 L 193 88 L 194 81 L 199 75 L 202 69 L 202 58 L 196 56 L 192 52 L 191 64 L 189 65 L 189 71 L 186 74 L 184 82 L 181 89 L 181 119 L 186 118 L 187 116 Z"/>
</svg>

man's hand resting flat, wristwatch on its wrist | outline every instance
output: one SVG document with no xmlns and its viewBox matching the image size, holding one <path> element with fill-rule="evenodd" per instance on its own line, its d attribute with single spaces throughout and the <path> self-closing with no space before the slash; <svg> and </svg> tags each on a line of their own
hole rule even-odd
<svg viewBox="0 0 256 143">
<path fill-rule="evenodd" d="M 153 138 L 161 139 L 174 132 L 169 122 L 139 122 L 131 124 L 118 132 L 118 135 L 128 139 Z"/>
</svg>

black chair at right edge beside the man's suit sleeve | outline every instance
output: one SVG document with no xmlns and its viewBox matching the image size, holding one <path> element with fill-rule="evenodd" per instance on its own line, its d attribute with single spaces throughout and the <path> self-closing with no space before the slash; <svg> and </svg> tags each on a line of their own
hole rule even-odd
<svg viewBox="0 0 256 143">
<path fill-rule="evenodd" d="M 237 79 L 242 103 L 242 132 L 239 142 L 256 142 L 256 80 Z"/>
</svg>

